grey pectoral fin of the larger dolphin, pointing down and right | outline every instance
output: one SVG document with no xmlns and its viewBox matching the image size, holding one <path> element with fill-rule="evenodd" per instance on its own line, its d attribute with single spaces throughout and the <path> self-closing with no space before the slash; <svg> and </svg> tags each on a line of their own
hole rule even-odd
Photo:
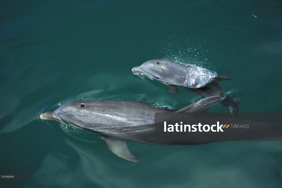
<svg viewBox="0 0 282 188">
<path fill-rule="evenodd" d="M 139 162 L 139 159 L 135 157 L 128 149 L 128 146 L 124 140 L 113 140 L 102 136 L 102 139 L 105 140 L 108 148 L 117 155 L 118 157 L 131 161 L 131 162 Z"/>
</svg>

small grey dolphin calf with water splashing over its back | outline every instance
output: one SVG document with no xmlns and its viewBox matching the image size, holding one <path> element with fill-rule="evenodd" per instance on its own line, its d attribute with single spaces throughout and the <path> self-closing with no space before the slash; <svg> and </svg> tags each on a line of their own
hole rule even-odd
<svg viewBox="0 0 282 188">
<path fill-rule="evenodd" d="M 159 59 L 149 60 L 138 67 L 134 67 L 132 72 L 149 76 L 155 80 L 163 82 L 170 94 L 178 94 L 176 86 L 183 86 L 186 90 L 195 93 L 202 98 L 210 96 L 221 96 L 224 99 L 221 103 L 230 109 L 232 116 L 234 112 L 239 112 L 240 99 L 233 99 L 230 95 L 223 95 L 219 82 L 231 80 L 225 76 L 217 76 L 213 71 L 201 67 L 191 67 L 171 60 Z"/>
</svg>

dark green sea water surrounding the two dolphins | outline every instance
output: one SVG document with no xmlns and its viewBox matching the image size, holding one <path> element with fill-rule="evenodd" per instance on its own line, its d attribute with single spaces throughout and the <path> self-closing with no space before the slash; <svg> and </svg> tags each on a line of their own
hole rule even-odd
<svg viewBox="0 0 282 188">
<path fill-rule="evenodd" d="M 281 1 L 0 1 L 0 187 L 281 187 L 282 144 L 154 146 L 128 142 L 138 163 L 101 137 L 43 112 L 73 100 L 180 108 L 131 69 L 166 58 L 230 77 L 240 112 L 282 111 Z M 210 112 L 228 112 L 215 104 Z"/>
</svg>

